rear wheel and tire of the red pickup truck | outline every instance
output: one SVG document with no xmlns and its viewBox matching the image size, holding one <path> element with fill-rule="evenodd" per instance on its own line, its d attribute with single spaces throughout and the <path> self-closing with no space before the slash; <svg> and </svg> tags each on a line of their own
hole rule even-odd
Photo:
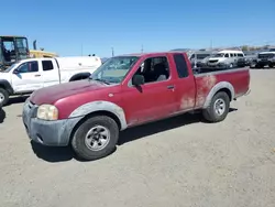
<svg viewBox="0 0 275 207">
<path fill-rule="evenodd" d="M 221 113 L 219 113 L 216 110 L 216 106 L 218 106 L 219 103 L 223 105 L 223 107 L 221 107 L 222 105 L 220 105 L 221 108 L 219 111 Z M 209 122 L 220 122 L 227 118 L 229 108 L 230 108 L 230 99 L 228 94 L 220 91 L 212 97 L 209 107 L 202 110 L 202 116 Z"/>
</svg>

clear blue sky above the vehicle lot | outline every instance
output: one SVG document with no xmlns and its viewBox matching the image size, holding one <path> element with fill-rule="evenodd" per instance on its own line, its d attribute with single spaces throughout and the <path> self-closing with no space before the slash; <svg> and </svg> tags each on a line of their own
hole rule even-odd
<svg viewBox="0 0 275 207">
<path fill-rule="evenodd" d="M 275 0 L 2 0 L 0 35 L 30 48 L 100 57 L 173 48 L 275 45 Z"/>
</svg>

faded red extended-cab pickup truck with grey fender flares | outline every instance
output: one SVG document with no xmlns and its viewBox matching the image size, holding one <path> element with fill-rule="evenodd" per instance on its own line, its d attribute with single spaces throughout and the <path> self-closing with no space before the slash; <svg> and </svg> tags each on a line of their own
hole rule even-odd
<svg viewBox="0 0 275 207">
<path fill-rule="evenodd" d="M 249 91 L 249 68 L 195 72 L 180 52 L 120 55 L 88 79 L 36 90 L 22 117 L 31 140 L 70 144 L 81 159 L 96 160 L 130 127 L 197 109 L 210 122 L 222 121 L 230 102 Z"/>
</svg>

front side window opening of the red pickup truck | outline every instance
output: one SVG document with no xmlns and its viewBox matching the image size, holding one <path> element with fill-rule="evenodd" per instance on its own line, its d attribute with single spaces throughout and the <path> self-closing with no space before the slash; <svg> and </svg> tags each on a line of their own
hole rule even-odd
<svg viewBox="0 0 275 207">
<path fill-rule="evenodd" d="M 142 75 L 145 84 L 167 80 L 170 75 L 167 57 L 158 56 L 145 59 L 135 75 Z"/>
</svg>

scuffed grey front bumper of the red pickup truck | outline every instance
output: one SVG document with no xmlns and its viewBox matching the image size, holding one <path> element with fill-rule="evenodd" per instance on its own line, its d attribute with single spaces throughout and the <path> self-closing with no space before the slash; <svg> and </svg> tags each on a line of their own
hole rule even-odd
<svg viewBox="0 0 275 207">
<path fill-rule="evenodd" d="M 68 145 L 73 129 L 82 117 L 45 121 L 36 118 L 37 108 L 29 99 L 23 107 L 22 119 L 29 138 L 43 145 Z"/>
</svg>

